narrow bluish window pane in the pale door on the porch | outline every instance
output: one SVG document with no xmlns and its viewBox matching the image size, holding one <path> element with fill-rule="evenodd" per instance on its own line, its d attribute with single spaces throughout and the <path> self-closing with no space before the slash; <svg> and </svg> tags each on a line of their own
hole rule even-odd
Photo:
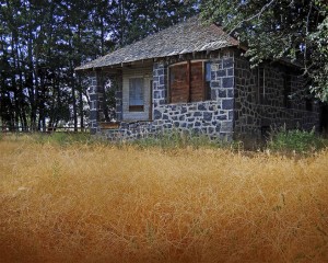
<svg viewBox="0 0 328 263">
<path fill-rule="evenodd" d="M 143 79 L 134 78 L 129 82 L 129 111 L 143 112 Z"/>
</svg>

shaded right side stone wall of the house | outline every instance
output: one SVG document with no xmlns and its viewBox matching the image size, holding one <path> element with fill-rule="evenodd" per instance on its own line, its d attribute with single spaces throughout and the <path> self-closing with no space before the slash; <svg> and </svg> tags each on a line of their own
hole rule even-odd
<svg viewBox="0 0 328 263">
<path fill-rule="evenodd" d="M 318 107 L 313 104 L 313 111 L 306 111 L 306 101 L 301 94 L 303 80 L 297 72 L 282 65 L 266 64 L 261 67 L 263 79 L 260 79 L 262 71 L 250 69 L 248 60 L 235 57 L 235 138 L 260 138 L 270 127 L 318 127 Z M 290 76 L 289 83 L 285 82 L 286 76 Z M 286 96 L 286 84 L 290 94 L 295 96 Z"/>
</svg>

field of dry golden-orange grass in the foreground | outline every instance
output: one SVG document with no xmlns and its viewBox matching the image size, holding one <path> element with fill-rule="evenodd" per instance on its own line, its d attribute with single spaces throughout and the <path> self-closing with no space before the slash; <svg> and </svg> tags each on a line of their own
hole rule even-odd
<svg viewBox="0 0 328 263">
<path fill-rule="evenodd" d="M 328 262 L 328 150 L 0 140 L 1 262 Z"/>
</svg>

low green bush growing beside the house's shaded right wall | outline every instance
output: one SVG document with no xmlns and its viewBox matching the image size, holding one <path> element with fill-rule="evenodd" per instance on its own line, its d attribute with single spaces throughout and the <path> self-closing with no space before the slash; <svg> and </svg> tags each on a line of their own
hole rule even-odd
<svg viewBox="0 0 328 263">
<path fill-rule="evenodd" d="M 314 130 L 280 129 L 277 133 L 273 132 L 270 137 L 268 141 L 269 149 L 279 152 L 311 153 L 327 146 L 327 141 L 315 134 Z"/>
</svg>

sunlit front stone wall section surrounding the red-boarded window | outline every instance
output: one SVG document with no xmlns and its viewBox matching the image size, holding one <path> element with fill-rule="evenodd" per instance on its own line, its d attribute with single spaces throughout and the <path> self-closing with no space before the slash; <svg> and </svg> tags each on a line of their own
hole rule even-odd
<svg viewBox="0 0 328 263">
<path fill-rule="evenodd" d="M 211 61 L 211 100 L 167 103 L 167 66 L 154 64 L 153 126 L 156 130 L 186 130 L 211 138 L 232 139 L 234 107 L 234 54 L 219 53 Z"/>
</svg>

